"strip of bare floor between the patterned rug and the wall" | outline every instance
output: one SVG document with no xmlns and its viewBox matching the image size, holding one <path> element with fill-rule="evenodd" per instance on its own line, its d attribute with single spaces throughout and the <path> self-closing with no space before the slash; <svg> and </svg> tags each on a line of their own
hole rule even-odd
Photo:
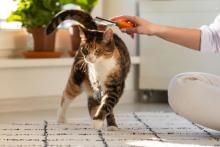
<svg viewBox="0 0 220 147">
<path fill-rule="evenodd" d="M 26 112 L 7 112 L 0 113 L 0 123 L 7 122 L 41 122 L 42 120 L 56 120 L 57 110 L 39 110 Z M 122 114 L 127 112 L 152 112 L 152 111 L 172 111 L 168 104 L 121 104 L 115 107 L 115 113 Z M 70 108 L 67 113 L 69 119 L 88 116 L 86 107 Z"/>
</svg>

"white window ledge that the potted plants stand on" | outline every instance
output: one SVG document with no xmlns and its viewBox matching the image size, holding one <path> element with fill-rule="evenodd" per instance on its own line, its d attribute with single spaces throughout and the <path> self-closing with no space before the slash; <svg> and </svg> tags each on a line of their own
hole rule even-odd
<svg viewBox="0 0 220 147">
<path fill-rule="evenodd" d="M 28 67 L 53 67 L 71 66 L 74 58 L 53 58 L 53 59 L 0 59 L 0 68 L 28 68 Z M 132 64 L 139 64 L 139 56 L 131 57 Z"/>
</svg>

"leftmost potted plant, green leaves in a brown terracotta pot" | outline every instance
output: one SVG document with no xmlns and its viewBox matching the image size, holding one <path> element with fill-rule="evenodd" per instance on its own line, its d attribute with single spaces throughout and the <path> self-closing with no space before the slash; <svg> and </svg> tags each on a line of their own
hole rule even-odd
<svg viewBox="0 0 220 147">
<path fill-rule="evenodd" d="M 7 18 L 8 21 L 20 21 L 27 31 L 32 33 L 35 52 L 53 52 L 55 32 L 46 36 L 44 30 L 56 13 L 61 11 L 59 0 L 14 0 L 18 6 Z"/>
</svg>

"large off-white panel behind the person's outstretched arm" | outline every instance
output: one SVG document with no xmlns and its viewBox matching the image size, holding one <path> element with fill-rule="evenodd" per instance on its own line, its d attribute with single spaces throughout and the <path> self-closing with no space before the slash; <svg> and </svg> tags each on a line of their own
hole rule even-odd
<svg viewBox="0 0 220 147">
<path fill-rule="evenodd" d="M 186 28 L 209 24 L 220 12 L 219 0 L 139 1 L 142 18 Z M 167 90 L 171 78 L 182 72 L 220 75 L 219 55 L 193 51 L 158 37 L 140 37 L 140 58 L 141 89 Z"/>
</svg>

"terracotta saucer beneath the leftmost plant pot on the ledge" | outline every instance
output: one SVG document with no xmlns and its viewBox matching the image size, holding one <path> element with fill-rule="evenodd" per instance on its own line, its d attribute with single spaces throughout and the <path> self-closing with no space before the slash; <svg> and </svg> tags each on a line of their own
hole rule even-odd
<svg viewBox="0 0 220 147">
<path fill-rule="evenodd" d="M 23 56 L 25 58 L 59 58 L 63 52 L 58 51 L 25 51 Z"/>
</svg>

